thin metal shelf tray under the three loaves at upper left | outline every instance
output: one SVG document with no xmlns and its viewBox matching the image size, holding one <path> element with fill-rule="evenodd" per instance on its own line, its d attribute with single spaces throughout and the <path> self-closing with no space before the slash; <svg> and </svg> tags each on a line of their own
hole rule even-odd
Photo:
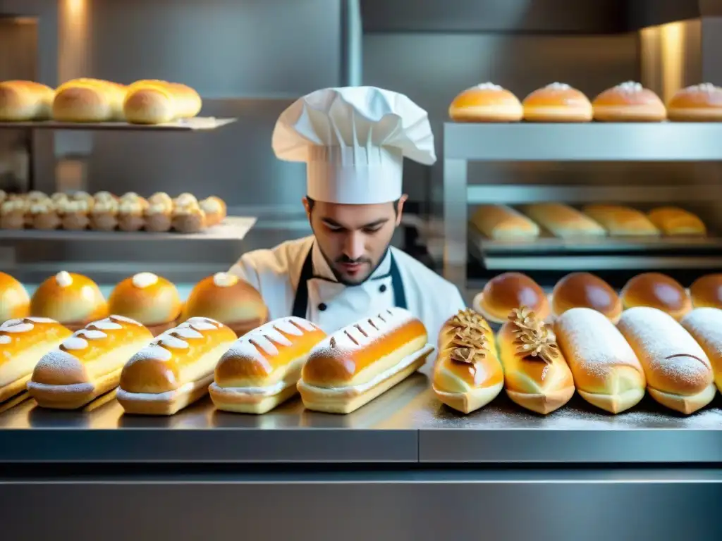
<svg viewBox="0 0 722 541">
<path fill-rule="evenodd" d="M 0 122 L 0 129 L 37 130 L 121 130 L 121 131 L 209 131 L 235 122 L 235 118 L 194 117 L 165 124 L 129 124 L 127 122 Z"/>
</svg>

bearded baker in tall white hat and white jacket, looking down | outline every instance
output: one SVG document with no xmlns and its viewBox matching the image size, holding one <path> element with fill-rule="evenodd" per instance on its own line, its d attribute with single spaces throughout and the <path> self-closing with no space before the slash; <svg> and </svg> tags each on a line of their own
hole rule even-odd
<svg viewBox="0 0 722 541">
<path fill-rule="evenodd" d="M 271 320 L 305 317 L 331 333 L 401 307 L 435 338 L 464 308 L 461 294 L 389 246 L 407 197 L 404 157 L 436 161 L 426 111 L 374 87 L 322 89 L 282 113 L 272 144 L 279 159 L 306 163 L 313 235 L 245 253 L 229 272 L 258 289 Z"/>
</svg>

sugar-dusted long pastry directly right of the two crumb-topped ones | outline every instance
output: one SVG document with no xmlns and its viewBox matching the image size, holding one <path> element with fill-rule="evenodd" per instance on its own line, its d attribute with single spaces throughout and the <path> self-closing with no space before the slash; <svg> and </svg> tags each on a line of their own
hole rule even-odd
<svg viewBox="0 0 722 541">
<path fill-rule="evenodd" d="M 644 397 L 642 365 L 614 323 L 590 308 L 572 308 L 554 322 L 562 355 L 579 395 L 597 408 L 619 413 Z"/>
</svg>

